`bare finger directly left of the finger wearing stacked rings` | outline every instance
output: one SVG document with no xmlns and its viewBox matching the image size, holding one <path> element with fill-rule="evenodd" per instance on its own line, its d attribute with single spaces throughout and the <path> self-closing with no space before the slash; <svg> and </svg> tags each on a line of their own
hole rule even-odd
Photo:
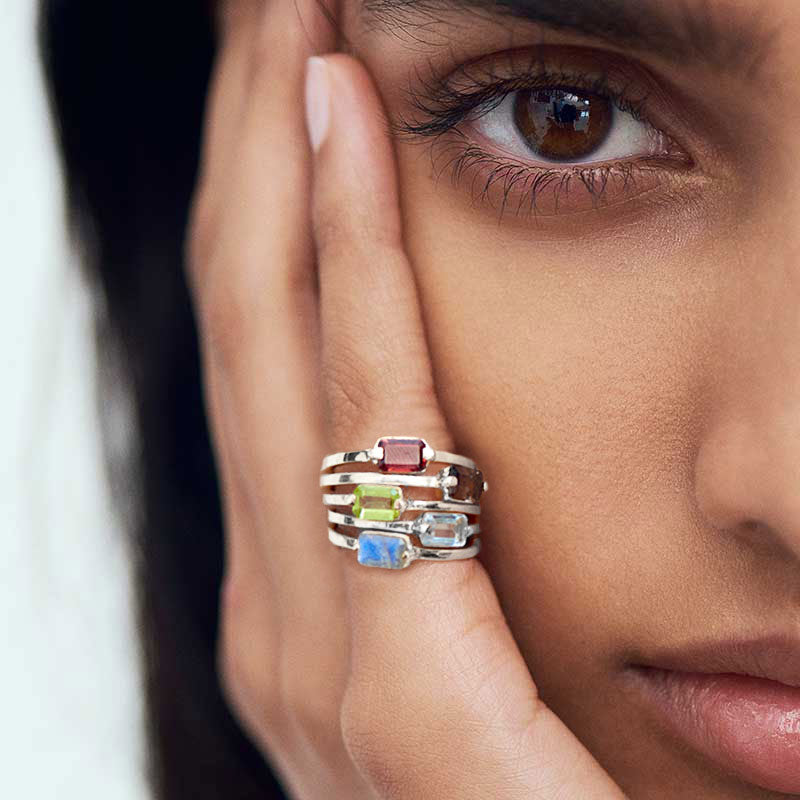
<svg viewBox="0 0 800 800">
<path fill-rule="evenodd" d="M 225 396 L 216 429 L 254 515 L 229 536 L 258 538 L 234 541 L 226 568 L 242 574 L 237 554 L 260 547 L 281 626 L 281 691 L 298 714 L 322 719 L 341 699 L 344 601 L 324 513 L 309 508 L 322 447 L 302 99 L 305 59 L 332 45 L 333 29 L 317 0 L 260 6 L 231 175 L 194 264 L 195 304 L 204 366 Z"/>
</svg>

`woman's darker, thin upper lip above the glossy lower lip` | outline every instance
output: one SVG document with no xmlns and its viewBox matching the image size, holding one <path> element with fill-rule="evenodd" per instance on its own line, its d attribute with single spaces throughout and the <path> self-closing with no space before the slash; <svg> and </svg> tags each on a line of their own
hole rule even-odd
<svg viewBox="0 0 800 800">
<path fill-rule="evenodd" d="M 800 687 L 800 636 L 692 642 L 652 652 L 635 666 L 678 672 L 734 673 Z"/>
</svg>

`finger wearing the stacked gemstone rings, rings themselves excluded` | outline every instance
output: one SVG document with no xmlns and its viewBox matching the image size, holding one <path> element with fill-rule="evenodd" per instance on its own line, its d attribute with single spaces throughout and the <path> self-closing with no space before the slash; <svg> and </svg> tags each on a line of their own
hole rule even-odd
<svg viewBox="0 0 800 800">
<path fill-rule="evenodd" d="M 379 96 L 344 54 L 320 73 L 335 98 L 312 198 L 331 443 L 357 450 L 397 433 L 450 449 Z M 622 797 L 539 700 L 477 560 L 389 572 L 340 555 L 352 627 L 343 730 L 382 796 Z"/>
</svg>

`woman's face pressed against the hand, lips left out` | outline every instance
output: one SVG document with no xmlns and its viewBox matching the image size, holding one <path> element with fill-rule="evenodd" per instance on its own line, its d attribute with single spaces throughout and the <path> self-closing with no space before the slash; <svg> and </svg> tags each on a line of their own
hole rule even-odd
<svg viewBox="0 0 800 800">
<path fill-rule="evenodd" d="M 543 699 L 628 794 L 784 796 L 687 747 L 628 668 L 800 636 L 800 7 L 483 5 L 342 11 L 405 126 L 484 563 Z"/>
</svg>

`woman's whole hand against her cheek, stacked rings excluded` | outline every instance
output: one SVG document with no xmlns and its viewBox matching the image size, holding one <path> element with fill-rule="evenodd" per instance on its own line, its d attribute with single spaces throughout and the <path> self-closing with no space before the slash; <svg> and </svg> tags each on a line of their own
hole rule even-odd
<svg viewBox="0 0 800 800">
<path fill-rule="evenodd" d="M 304 68 L 334 49 L 326 21 L 314 0 L 235 8 L 188 240 L 226 517 L 230 703 L 296 800 L 622 798 L 537 697 L 477 559 L 385 572 L 328 542 L 325 453 L 397 433 L 457 448 L 371 77 L 325 58 L 335 101 L 312 159 Z"/>
</svg>

